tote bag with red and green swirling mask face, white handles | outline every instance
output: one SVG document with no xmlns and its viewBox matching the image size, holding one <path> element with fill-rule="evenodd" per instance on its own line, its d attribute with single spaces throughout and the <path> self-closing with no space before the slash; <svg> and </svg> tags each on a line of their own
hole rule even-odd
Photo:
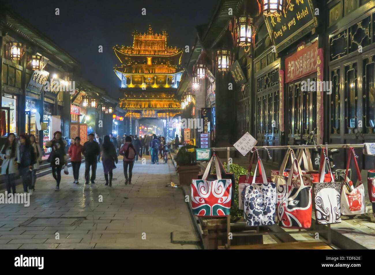
<svg viewBox="0 0 375 275">
<path fill-rule="evenodd" d="M 216 180 L 207 180 L 212 160 L 215 157 Z M 221 177 L 220 165 L 213 154 L 202 179 L 192 180 L 191 204 L 195 216 L 228 216 L 231 210 L 232 180 Z"/>
</svg>

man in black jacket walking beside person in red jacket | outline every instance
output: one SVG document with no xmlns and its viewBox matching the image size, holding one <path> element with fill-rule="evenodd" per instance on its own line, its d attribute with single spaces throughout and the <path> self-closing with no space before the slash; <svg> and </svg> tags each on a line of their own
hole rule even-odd
<svg viewBox="0 0 375 275">
<path fill-rule="evenodd" d="M 96 164 L 98 163 L 98 155 L 100 154 L 99 143 L 94 140 L 94 134 L 89 134 L 89 140 L 83 144 L 83 155 L 85 156 L 85 181 L 89 184 L 95 184 L 96 178 Z M 103 160 L 103 159 L 102 159 Z M 91 178 L 90 178 L 91 166 Z"/>
</svg>

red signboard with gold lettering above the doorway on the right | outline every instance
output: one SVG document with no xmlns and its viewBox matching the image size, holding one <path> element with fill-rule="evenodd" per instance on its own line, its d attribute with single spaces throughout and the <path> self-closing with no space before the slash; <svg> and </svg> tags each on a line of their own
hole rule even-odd
<svg viewBox="0 0 375 275">
<path fill-rule="evenodd" d="M 285 83 L 317 71 L 318 41 L 285 58 Z"/>
</svg>

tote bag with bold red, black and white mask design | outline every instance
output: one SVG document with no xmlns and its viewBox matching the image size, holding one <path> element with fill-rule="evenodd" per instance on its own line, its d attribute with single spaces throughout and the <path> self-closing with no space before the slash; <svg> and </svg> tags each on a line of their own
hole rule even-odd
<svg viewBox="0 0 375 275">
<path fill-rule="evenodd" d="M 298 177 L 293 178 L 294 169 Z M 310 228 L 312 214 L 312 186 L 306 185 L 297 159 L 292 162 L 287 184 L 277 186 L 277 210 L 279 226 L 287 228 Z"/>
</svg>

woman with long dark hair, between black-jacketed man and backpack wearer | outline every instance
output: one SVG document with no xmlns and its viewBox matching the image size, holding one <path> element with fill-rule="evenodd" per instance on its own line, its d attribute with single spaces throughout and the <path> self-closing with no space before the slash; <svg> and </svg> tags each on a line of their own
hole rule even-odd
<svg viewBox="0 0 375 275">
<path fill-rule="evenodd" d="M 113 146 L 113 143 L 111 143 L 110 136 L 108 135 L 104 137 L 104 142 L 102 145 L 102 163 L 104 169 L 105 185 L 112 186 L 112 170 L 116 168 L 115 163 L 118 164 L 118 158 L 116 148 Z"/>
</svg>

